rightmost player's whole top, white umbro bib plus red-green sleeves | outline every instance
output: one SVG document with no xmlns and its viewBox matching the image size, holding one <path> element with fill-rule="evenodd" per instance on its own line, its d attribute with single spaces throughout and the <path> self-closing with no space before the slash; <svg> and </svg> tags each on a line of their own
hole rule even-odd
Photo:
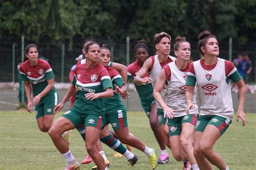
<svg viewBox="0 0 256 170">
<path fill-rule="evenodd" d="M 200 115 L 217 115 L 232 120 L 234 110 L 230 79 L 233 82 L 241 79 L 230 61 L 218 58 L 217 63 L 206 66 L 202 59 L 191 64 L 186 85 L 195 86 L 197 82 Z"/>
</svg>

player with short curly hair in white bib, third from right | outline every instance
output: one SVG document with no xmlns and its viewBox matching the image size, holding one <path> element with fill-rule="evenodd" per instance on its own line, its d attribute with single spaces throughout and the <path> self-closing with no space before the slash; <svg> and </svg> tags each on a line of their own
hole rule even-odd
<svg viewBox="0 0 256 170">
<path fill-rule="evenodd" d="M 158 33 L 154 35 L 154 44 L 158 50 L 158 54 L 151 56 L 144 63 L 142 68 L 140 68 L 137 75 L 134 77 L 133 82 L 137 83 L 138 86 L 142 84 L 152 83 L 153 87 L 155 86 L 158 76 L 160 74 L 161 68 L 167 65 L 168 63 L 176 60 L 173 56 L 170 56 L 171 51 L 171 36 L 165 32 Z M 150 77 L 144 77 L 146 73 L 150 70 Z M 161 90 L 161 96 L 164 97 L 166 90 Z M 157 116 L 158 123 L 161 129 L 162 136 L 165 140 L 166 146 L 170 147 L 169 137 L 168 137 L 168 126 L 166 124 L 167 119 L 164 117 L 163 109 L 157 103 Z M 167 150 L 161 150 L 161 157 L 159 163 L 162 161 L 169 160 L 169 154 Z"/>
</svg>

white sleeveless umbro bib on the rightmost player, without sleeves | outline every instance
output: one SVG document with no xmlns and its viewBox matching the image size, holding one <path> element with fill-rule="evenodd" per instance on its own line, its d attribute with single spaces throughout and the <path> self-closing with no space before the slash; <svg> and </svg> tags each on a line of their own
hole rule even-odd
<svg viewBox="0 0 256 170">
<path fill-rule="evenodd" d="M 205 70 L 200 60 L 193 62 L 193 65 L 201 103 L 200 115 L 217 115 L 232 120 L 231 83 L 226 83 L 225 60 L 218 58 L 212 70 Z"/>
</svg>

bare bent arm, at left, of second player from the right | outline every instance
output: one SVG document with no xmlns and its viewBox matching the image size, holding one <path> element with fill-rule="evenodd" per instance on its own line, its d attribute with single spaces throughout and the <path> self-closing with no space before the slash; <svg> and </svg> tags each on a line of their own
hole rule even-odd
<svg viewBox="0 0 256 170">
<path fill-rule="evenodd" d="M 156 86 L 154 87 L 153 96 L 159 103 L 159 105 L 163 108 L 164 117 L 167 116 L 168 118 L 173 118 L 174 111 L 165 104 L 163 98 L 160 95 L 160 92 L 163 90 L 166 80 L 167 77 L 165 75 L 165 69 L 162 69 L 157 79 Z"/>
</svg>

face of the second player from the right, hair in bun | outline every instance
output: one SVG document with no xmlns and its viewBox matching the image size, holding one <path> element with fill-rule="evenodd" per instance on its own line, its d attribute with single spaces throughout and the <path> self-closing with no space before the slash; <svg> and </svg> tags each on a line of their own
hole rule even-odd
<svg viewBox="0 0 256 170">
<path fill-rule="evenodd" d="M 190 44 L 188 42 L 181 42 L 178 51 L 174 51 L 174 53 L 181 60 L 190 60 Z"/>
</svg>

